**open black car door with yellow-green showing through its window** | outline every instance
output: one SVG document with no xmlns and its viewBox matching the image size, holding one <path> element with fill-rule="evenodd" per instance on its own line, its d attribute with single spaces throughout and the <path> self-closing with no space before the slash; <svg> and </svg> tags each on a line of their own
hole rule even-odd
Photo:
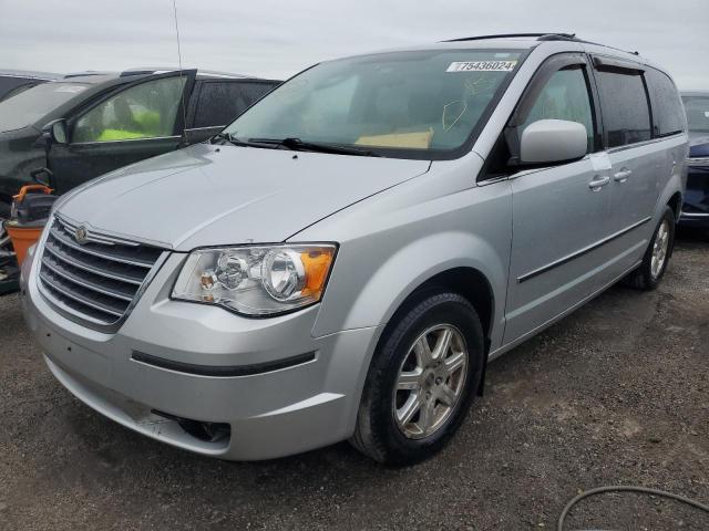
<svg viewBox="0 0 709 531">
<path fill-rule="evenodd" d="M 56 191 L 176 149 L 195 75 L 189 70 L 143 77 L 69 117 L 69 143 L 52 144 L 48 156 Z"/>
</svg>

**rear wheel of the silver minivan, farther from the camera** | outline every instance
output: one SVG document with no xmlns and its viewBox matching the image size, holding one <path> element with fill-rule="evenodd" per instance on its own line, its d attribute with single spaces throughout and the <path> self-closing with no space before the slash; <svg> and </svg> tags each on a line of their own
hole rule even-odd
<svg viewBox="0 0 709 531">
<path fill-rule="evenodd" d="M 675 247 L 675 212 L 665 207 L 662 217 L 653 233 L 643 262 L 627 278 L 626 283 L 637 290 L 651 291 L 665 275 Z"/>
</svg>

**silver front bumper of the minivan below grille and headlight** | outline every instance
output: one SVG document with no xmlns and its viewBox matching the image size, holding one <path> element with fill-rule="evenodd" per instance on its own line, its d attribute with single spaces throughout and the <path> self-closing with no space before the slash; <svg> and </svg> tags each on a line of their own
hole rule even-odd
<svg viewBox="0 0 709 531">
<path fill-rule="evenodd" d="M 54 376 L 117 423 L 203 455 L 268 459 L 348 438 L 381 327 L 312 337 L 318 306 L 254 320 L 172 301 L 167 287 L 183 258 L 175 253 L 166 260 L 112 334 L 56 312 L 39 291 L 38 260 L 25 260 L 22 310 Z M 136 361 L 136 353 L 176 365 L 166 368 Z M 304 360 L 298 357 L 304 354 L 311 355 L 277 368 L 279 361 Z M 182 368 L 193 366 L 250 368 L 242 376 L 205 376 Z M 204 440 L 173 417 L 228 425 L 229 435 Z"/>
</svg>

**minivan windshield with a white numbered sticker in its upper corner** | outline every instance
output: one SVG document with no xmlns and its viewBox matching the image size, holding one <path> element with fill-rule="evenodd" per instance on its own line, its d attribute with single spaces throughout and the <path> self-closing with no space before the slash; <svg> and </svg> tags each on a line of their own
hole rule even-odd
<svg viewBox="0 0 709 531">
<path fill-rule="evenodd" d="M 471 137 L 521 51 L 393 52 L 321 63 L 280 85 L 225 133 L 299 138 L 401 158 L 452 158 Z"/>
</svg>

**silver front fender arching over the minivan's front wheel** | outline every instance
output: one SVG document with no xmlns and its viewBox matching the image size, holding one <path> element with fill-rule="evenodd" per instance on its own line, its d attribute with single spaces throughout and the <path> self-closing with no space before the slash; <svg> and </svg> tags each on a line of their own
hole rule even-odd
<svg viewBox="0 0 709 531">
<path fill-rule="evenodd" d="M 339 239 L 315 336 L 386 324 L 427 280 L 453 268 L 472 268 L 487 279 L 497 301 L 493 346 L 502 337 L 512 238 L 508 183 L 446 189 L 442 176 L 414 180 L 410 194 L 398 187 L 390 194 L 392 201 L 380 197 L 308 235 L 312 241 L 325 241 L 332 231 L 349 236 Z"/>
</svg>

